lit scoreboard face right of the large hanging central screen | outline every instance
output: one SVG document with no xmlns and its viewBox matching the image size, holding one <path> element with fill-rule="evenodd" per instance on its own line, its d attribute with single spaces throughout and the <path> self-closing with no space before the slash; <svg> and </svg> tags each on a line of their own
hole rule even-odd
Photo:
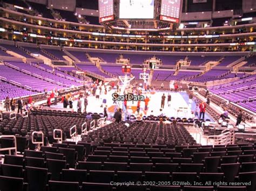
<svg viewBox="0 0 256 191">
<path fill-rule="evenodd" d="M 160 20 L 179 23 L 181 0 L 161 0 Z"/>
</svg>

